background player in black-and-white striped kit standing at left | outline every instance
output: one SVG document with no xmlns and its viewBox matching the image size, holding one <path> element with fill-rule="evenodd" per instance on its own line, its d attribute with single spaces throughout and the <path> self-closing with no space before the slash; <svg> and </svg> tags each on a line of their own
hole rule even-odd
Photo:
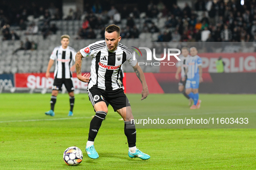
<svg viewBox="0 0 256 170">
<path fill-rule="evenodd" d="M 50 56 L 48 63 L 48 68 L 46 70 L 45 77 L 48 79 L 50 77 L 50 69 L 55 60 L 55 71 L 54 71 L 54 82 L 52 86 L 52 97 L 51 97 L 51 110 L 45 112 L 46 115 L 54 116 L 54 106 L 56 103 L 58 91 L 62 90 L 62 85 L 64 84 L 68 94 L 70 102 L 70 110 L 68 116 L 73 116 L 73 107 L 75 103 L 74 96 L 74 87 L 72 82 L 72 72 L 75 71 L 75 64 L 72 66 L 72 63 L 75 62 L 76 51 L 74 48 L 69 47 L 69 35 L 61 36 L 61 46 L 55 47 Z"/>
</svg>

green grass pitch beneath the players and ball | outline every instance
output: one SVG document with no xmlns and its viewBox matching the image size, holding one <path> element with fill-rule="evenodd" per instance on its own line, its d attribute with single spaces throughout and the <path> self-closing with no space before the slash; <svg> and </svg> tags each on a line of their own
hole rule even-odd
<svg viewBox="0 0 256 170">
<path fill-rule="evenodd" d="M 94 110 L 87 94 L 75 95 L 74 116 L 68 117 L 68 94 L 59 94 L 55 116 L 51 94 L 0 94 L 0 170 L 255 170 L 256 129 L 137 129 L 137 147 L 151 158 L 128 157 L 123 121 L 109 107 L 95 139 L 97 160 L 84 150 Z M 128 94 L 133 113 L 189 113 L 182 94 Z M 200 112 L 256 112 L 253 94 L 200 94 Z M 166 105 L 162 104 L 162 105 Z M 70 146 L 81 148 L 83 161 L 71 167 L 63 161 Z"/>
</svg>

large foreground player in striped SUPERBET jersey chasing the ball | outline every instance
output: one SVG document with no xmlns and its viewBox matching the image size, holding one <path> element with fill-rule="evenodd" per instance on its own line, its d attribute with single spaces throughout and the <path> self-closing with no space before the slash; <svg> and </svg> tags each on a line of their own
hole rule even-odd
<svg viewBox="0 0 256 170">
<path fill-rule="evenodd" d="M 107 115 L 108 109 L 105 103 L 107 100 L 114 111 L 120 114 L 124 120 L 124 133 L 127 137 L 129 157 L 139 157 L 143 160 L 150 158 L 148 154 L 136 148 L 136 129 L 133 119 L 130 102 L 123 92 L 123 88 L 118 82 L 120 67 L 127 60 L 136 72 L 142 83 L 142 98 L 148 94 L 148 86 L 141 67 L 137 60 L 133 60 L 132 52 L 129 48 L 119 43 L 120 28 L 117 25 L 109 25 L 105 30 L 105 40 L 97 41 L 84 47 L 75 57 L 77 77 L 82 82 L 88 82 L 88 96 L 96 112 L 91 120 L 86 152 L 88 157 L 97 159 L 99 157 L 94 148 L 94 139 L 100 129 L 102 121 Z M 89 74 L 81 75 L 81 63 L 83 57 L 91 57 L 91 79 Z"/>
</svg>

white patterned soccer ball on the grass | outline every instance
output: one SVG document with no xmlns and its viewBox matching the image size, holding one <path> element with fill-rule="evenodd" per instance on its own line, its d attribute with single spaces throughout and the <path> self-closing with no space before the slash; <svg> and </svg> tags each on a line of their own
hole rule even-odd
<svg viewBox="0 0 256 170">
<path fill-rule="evenodd" d="M 79 165 L 83 160 L 83 152 L 75 146 L 71 146 L 64 151 L 63 159 L 67 165 Z"/>
</svg>

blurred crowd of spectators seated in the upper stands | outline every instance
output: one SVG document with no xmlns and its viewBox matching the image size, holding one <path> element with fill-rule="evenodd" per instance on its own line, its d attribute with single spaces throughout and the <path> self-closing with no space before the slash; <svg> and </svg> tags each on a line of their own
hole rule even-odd
<svg viewBox="0 0 256 170">
<path fill-rule="evenodd" d="M 0 2 L 0 34 L 3 40 L 19 39 L 10 26 L 18 26 L 26 30 L 26 34 L 42 34 L 44 38 L 55 34 L 59 29 L 50 25 L 52 20 L 83 20 L 78 30 L 77 39 L 94 39 L 94 29 L 100 29 L 104 38 L 104 28 L 110 24 L 120 24 L 126 19 L 125 27 L 121 28 L 122 38 L 139 38 L 141 33 L 159 33 L 160 42 L 168 41 L 256 41 L 256 0 L 245 1 L 241 5 L 235 0 L 197 0 L 193 7 L 188 4 L 181 9 L 176 4 L 169 6 L 161 0 L 151 1 L 146 11 L 139 6 L 134 8 L 106 7 L 95 1 L 93 5 L 85 4 L 84 13 L 79 9 L 70 9 L 63 16 L 61 10 L 50 3 L 47 8 L 31 3 L 30 6 L 12 8 L 6 0 Z M 36 19 L 31 22 L 29 17 Z M 144 19 L 143 27 L 138 28 L 135 19 Z M 159 28 L 152 19 L 165 18 L 165 24 Z"/>
</svg>

